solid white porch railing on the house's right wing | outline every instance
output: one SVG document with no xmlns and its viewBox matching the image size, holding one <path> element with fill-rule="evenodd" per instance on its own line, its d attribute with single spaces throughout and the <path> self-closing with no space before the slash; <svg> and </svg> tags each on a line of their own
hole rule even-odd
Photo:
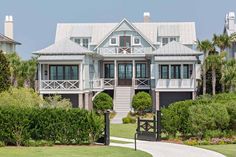
<svg viewBox="0 0 236 157">
<path fill-rule="evenodd" d="M 158 79 L 156 88 L 194 88 L 194 79 Z"/>
</svg>

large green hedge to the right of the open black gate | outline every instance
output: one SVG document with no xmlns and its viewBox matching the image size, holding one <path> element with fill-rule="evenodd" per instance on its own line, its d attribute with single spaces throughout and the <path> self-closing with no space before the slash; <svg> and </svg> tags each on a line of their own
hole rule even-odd
<svg viewBox="0 0 236 157">
<path fill-rule="evenodd" d="M 163 131 L 205 137 L 209 131 L 236 131 L 236 93 L 200 96 L 161 109 Z"/>
</svg>

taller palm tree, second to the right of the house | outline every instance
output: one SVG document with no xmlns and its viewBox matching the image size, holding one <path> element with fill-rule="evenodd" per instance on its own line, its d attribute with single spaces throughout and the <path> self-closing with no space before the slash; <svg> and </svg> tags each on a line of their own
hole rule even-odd
<svg viewBox="0 0 236 157">
<path fill-rule="evenodd" d="M 214 34 L 213 36 L 213 44 L 215 46 L 217 46 L 220 49 L 220 54 L 225 55 L 225 50 L 226 48 L 231 47 L 232 45 L 232 37 L 229 37 L 227 34 L 222 34 L 222 35 L 216 35 Z M 226 56 L 226 55 L 225 55 Z M 225 57 L 222 58 L 222 64 L 221 64 L 221 70 L 224 69 L 224 62 L 225 62 Z M 224 78 L 224 74 L 222 74 L 221 76 L 222 78 Z M 221 79 L 224 80 L 224 79 Z M 225 91 L 225 82 L 221 82 L 222 83 L 222 91 Z"/>
</svg>

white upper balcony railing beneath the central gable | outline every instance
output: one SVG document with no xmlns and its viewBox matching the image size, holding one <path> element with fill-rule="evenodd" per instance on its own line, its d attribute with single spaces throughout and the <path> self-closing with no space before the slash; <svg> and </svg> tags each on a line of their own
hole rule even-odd
<svg viewBox="0 0 236 157">
<path fill-rule="evenodd" d="M 144 54 L 151 52 L 151 47 L 101 47 L 99 54 Z"/>
</svg>

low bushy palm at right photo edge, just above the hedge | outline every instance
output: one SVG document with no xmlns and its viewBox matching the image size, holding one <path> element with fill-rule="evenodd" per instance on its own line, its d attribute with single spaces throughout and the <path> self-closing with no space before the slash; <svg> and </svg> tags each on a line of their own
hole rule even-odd
<svg viewBox="0 0 236 157">
<path fill-rule="evenodd" d="M 229 91 L 233 92 L 236 87 L 236 60 L 228 60 L 222 71 L 224 73 L 224 82 L 229 87 Z"/>
</svg>

